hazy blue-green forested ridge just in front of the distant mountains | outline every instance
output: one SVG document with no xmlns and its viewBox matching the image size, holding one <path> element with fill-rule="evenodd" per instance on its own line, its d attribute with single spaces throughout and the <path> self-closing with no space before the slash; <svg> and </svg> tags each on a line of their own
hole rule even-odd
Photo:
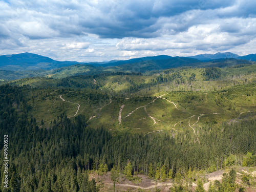
<svg viewBox="0 0 256 192">
<path fill-rule="evenodd" d="M 254 62 L 241 60 L 241 59 L 216 59 L 206 62 L 201 62 L 194 58 L 188 57 L 171 57 L 168 59 L 145 60 L 135 63 L 126 63 L 118 66 L 103 67 L 93 65 L 73 65 L 68 67 L 62 67 L 53 70 L 27 70 L 27 71 L 6 71 L 0 70 L 0 80 L 14 80 L 27 77 L 51 77 L 51 78 L 63 78 L 74 75 L 96 75 L 101 73 L 113 73 L 113 72 L 125 72 L 125 73 L 143 73 L 145 75 L 152 75 L 158 71 L 162 71 L 170 68 L 181 67 L 194 67 L 194 68 L 206 68 L 206 67 L 219 67 L 227 68 L 238 65 L 252 65 Z M 107 65 L 107 64 L 106 64 Z"/>
</svg>

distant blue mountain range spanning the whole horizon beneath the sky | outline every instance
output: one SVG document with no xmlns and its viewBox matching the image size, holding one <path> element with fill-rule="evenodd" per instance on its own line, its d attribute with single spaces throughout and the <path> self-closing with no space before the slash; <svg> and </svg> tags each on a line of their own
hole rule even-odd
<svg viewBox="0 0 256 192">
<path fill-rule="evenodd" d="M 114 66 L 120 66 L 125 64 L 133 64 L 133 63 L 139 63 L 139 62 L 141 63 L 141 62 L 150 61 L 150 60 L 152 61 L 164 60 L 164 62 L 170 65 L 169 67 L 174 67 L 174 66 L 177 67 L 177 65 L 186 66 L 188 63 L 210 61 L 210 60 L 221 59 L 221 58 L 223 59 L 235 58 L 235 59 L 245 59 L 249 61 L 256 61 L 256 54 L 239 56 L 237 54 L 226 52 L 226 53 L 216 53 L 216 54 L 195 55 L 195 56 L 189 56 L 189 57 L 172 57 L 168 55 L 158 55 L 158 56 L 152 56 L 152 57 L 134 58 L 129 60 L 111 60 L 111 61 L 105 61 L 105 62 L 77 62 L 77 61 L 57 61 L 49 57 L 44 57 L 37 54 L 20 53 L 20 54 L 14 54 L 14 55 L 0 56 L 0 69 L 10 70 L 10 71 L 24 71 L 24 70 L 34 71 L 39 69 L 53 70 L 53 69 L 73 66 L 77 64 L 91 65 L 94 67 L 114 67 Z M 191 60 L 191 59 L 194 59 L 194 60 Z M 165 64 L 162 63 L 162 64 L 166 66 L 166 63 Z"/>
</svg>

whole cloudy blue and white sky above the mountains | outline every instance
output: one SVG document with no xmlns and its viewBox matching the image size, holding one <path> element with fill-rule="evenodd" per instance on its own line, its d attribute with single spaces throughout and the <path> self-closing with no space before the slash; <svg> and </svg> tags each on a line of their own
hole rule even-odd
<svg viewBox="0 0 256 192">
<path fill-rule="evenodd" d="M 0 1 L 0 55 L 79 62 L 256 53 L 256 1 Z"/>
</svg>

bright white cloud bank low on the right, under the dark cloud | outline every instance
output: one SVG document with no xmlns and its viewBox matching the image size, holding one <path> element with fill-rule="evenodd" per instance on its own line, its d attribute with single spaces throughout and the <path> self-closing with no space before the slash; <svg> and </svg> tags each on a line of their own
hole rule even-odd
<svg viewBox="0 0 256 192">
<path fill-rule="evenodd" d="M 243 33 L 243 31 L 241 32 Z M 254 35 L 256 37 L 256 35 Z M 116 45 L 118 50 L 225 50 L 231 47 L 244 45 L 251 39 L 244 35 L 234 37 L 223 30 L 219 24 L 192 26 L 179 34 L 158 38 L 123 38 Z M 185 51 L 187 52 L 187 51 Z"/>
</svg>

